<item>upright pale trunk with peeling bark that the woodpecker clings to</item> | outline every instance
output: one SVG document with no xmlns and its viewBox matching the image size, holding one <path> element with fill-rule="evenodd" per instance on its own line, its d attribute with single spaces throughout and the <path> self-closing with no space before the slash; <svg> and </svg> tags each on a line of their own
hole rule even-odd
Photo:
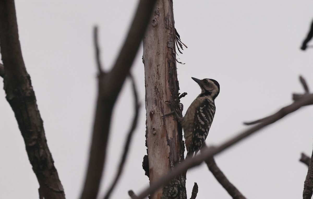
<svg viewBox="0 0 313 199">
<path fill-rule="evenodd" d="M 181 127 L 178 127 L 174 115 L 161 118 L 171 112 L 165 101 L 171 102 L 173 109 L 179 109 L 172 0 L 156 2 L 143 39 L 143 63 L 146 86 L 146 145 L 151 184 L 184 159 Z M 185 181 L 184 174 L 177 176 L 151 195 L 151 199 L 187 198 Z"/>
</svg>

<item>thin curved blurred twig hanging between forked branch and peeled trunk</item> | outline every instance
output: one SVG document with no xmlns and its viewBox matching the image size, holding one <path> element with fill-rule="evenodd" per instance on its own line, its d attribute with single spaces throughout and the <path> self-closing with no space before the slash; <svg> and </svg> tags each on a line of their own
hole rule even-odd
<svg viewBox="0 0 313 199">
<path fill-rule="evenodd" d="M 131 129 L 129 130 L 128 135 L 127 135 L 123 156 L 122 156 L 121 161 L 120 161 L 120 166 L 119 166 L 119 168 L 117 170 L 115 179 L 111 183 L 111 186 L 110 186 L 108 192 L 106 193 L 104 199 L 108 199 L 110 197 L 112 191 L 115 188 L 115 185 L 116 185 L 117 181 L 121 177 L 121 173 L 122 173 L 122 171 L 124 169 L 125 161 L 126 161 L 128 150 L 129 150 L 129 146 L 130 146 L 130 143 L 131 143 L 131 138 L 132 138 L 132 135 L 134 134 L 134 131 L 135 131 L 137 123 L 138 123 L 138 116 L 139 116 L 139 109 L 140 109 L 140 104 L 138 102 L 138 92 L 137 92 L 137 89 L 136 89 L 136 83 L 135 83 L 134 77 L 131 74 L 129 75 L 129 77 L 131 79 L 132 89 L 133 89 L 133 94 L 134 94 L 134 108 L 135 108 L 134 112 L 135 112 L 135 114 L 134 114 L 133 122 L 132 122 L 132 125 L 131 125 Z"/>
</svg>

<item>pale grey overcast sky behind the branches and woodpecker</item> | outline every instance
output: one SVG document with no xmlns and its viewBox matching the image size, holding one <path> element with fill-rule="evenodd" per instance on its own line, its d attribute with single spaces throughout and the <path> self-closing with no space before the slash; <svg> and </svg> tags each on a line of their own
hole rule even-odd
<svg viewBox="0 0 313 199">
<path fill-rule="evenodd" d="M 84 182 L 96 99 L 92 27 L 99 25 L 101 59 L 109 69 L 124 41 L 135 0 L 16 1 L 23 58 L 31 76 L 50 151 L 68 199 L 78 198 Z M 221 90 L 206 143 L 219 144 L 259 119 L 292 103 L 303 89 L 302 74 L 313 89 L 313 48 L 301 51 L 313 18 L 310 0 L 212 0 L 174 2 L 175 27 L 188 48 L 177 64 L 185 111 L 200 93 L 191 79 L 211 78 Z M 139 125 L 126 170 L 112 198 L 127 198 L 148 185 L 142 169 L 145 147 L 145 86 L 140 48 L 132 72 L 142 103 Z M 130 82 L 115 106 L 110 132 L 105 190 L 115 175 L 133 113 Z M 3 87 L 1 81 L 0 86 Z M 0 92 L 1 198 L 38 198 L 38 182 L 25 151 L 13 111 Z M 184 112 L 185 112 L 184 111 Z M 254 199 L 301 198 L 310 155 L 313 107 L 305 107 L 216 156 L 228 179 Z M 206 165 L 187 172 L 198 197 L 230 198 Z"/>
</svg>

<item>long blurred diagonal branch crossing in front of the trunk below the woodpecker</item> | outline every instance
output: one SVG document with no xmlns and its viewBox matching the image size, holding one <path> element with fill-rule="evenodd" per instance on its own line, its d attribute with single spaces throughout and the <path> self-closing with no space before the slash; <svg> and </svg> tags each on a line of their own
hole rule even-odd
<svg viewBox="0 0 313 199">
<path fill-rule="evenodd" d="M 213 157 L 214 155 L 220 153 L 221 151 L 224 151 L 228 147 L 238 143 L 239 141 L 243 140 L 244 138 L 248 137 L 254 132 L 264 128 L 265 126 L 270 125 L 276 122 L 277 120 L 282 119 L 286 115 L 298 110 L 300 107 L 308 105 L 309 103 L 312 103 L 312 101 L 313 101 L 313 94 L 309 94 L 299 99 L 298 101 L 295 101 L 291 105 L 288 105 L 282 108 L 277 113 L 267 117 L 262 123 L 259 123 L 258 125 L 255 125 L 249 128 L 248 130 L 240 133 L 239 135 L 234 136 L 230 140 L 225 141 L 223 144 L 217 147 L 209 147 L 208 149 L 204 149 L 200 155 L 195 156 L 193 158 L 187 158 L 184 162 L 174 167 L 172 171 L 169 171 L 166 175 L 159 178 L 159 180 L 156 180 L 155 183 L 151 184 L 150 187 L 146 188 L 136 199 L 145 198 L 146 196 L 148 196 L 149 194 L 153 193 L 158 188 L 160 188 L 162 185 L 172 180 L 175 176 L 186 172 L 187 169 L 200 165 L 204 160 L 210 157 Z"/>
</svg>

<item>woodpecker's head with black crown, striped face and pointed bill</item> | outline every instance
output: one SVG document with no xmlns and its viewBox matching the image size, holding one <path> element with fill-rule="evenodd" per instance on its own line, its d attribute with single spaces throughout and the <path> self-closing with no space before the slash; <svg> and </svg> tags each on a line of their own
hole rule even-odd
<svg viewBox="0 0 313 199">
<path fill-rule="evenodd" d="M 211 96 L 214 100 L 219 94 L 219 84 L 214 79 L 197 79 L 192 77 L 192 79 L 197 82 L 201 88 L 200 96 Z"/>
</svg>

